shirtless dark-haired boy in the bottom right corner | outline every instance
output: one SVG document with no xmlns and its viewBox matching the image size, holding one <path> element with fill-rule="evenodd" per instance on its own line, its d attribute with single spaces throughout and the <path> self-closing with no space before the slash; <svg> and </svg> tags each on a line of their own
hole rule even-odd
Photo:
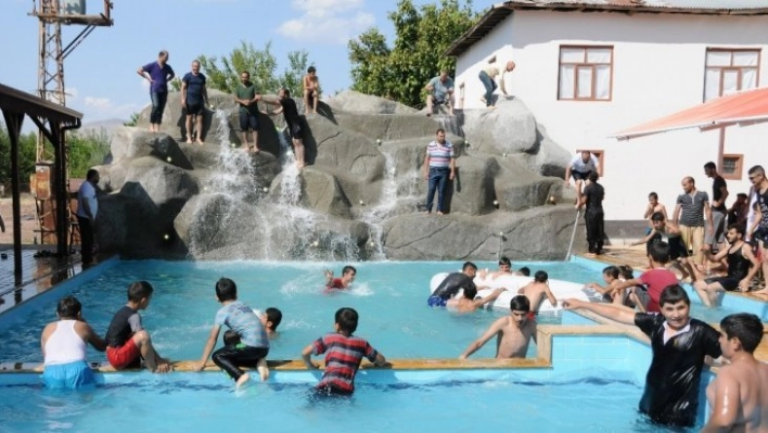
<svg viewBox="0 0 768 433">
<path fill-rule="evenodd" d="M 755 359 L 760 319 L 747 313 L 720 321 L 720 349 L 730 360 L 706 390 L 712 413 L 702 433 L 768 432 L 768 365 Z"/>
</svg>

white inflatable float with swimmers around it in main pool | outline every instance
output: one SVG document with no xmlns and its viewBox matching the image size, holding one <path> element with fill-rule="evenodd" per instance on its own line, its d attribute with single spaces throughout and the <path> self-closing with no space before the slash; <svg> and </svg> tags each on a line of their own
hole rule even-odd
<svg viewBox="0 0 768 433">
<path fill-rule="evenodd" d="M 448 277 L 448 272 L 440 272 L 432 277 L 432 280 L 430 280 L 430 293 L 433 293 L 435 289 L 440 285 L 440 283 L 443 282 L 443 280 L 445 280 L 446 277 Z M 512 298 L 517 295 L 517 290 L 520 290 L 522 286 L 533 280 L 533 277 L 504 275 L 499 276 L 496 279 L 492 279 L 490 277 L 483 279 L 477 276 L 475 277 L 474 282 L 475 285 L 477 285 L 478 288 L 490 288 L 477 291 L 477 296 L 482 297 L 489 296 L 491 293 L 494 293 L 494 290 L 496 289 L 507 289 L 507 291 L 502 292 L 499 297 L 486 305 L 488 307 L 499 308 L 509 311 L 510 301 L 512 301 Z M 553 307 L 552 304 L 550 304 L 549 301 L 545 298 L 539 306 L 539 311 L 558 311 L 563 308 L 562 301 L 571 297 L 587 302 L 593 302 L 599 298 L 597 297 L 599 296 L 599 294 L 597 294 L 593 290 L 584 289 L 583 283 L 550 279 L 549 289 L 552 291 L 554 297 L 558 298 L 558 306 Z M 459 293 L 461 293 L 461 290 L 459 291 Z"/>
</svg>

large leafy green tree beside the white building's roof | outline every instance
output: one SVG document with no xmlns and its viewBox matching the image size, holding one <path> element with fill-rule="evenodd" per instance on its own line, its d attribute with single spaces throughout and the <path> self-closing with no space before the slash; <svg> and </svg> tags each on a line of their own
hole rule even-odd
<svg viewBox="0 0 768 433">
<path fill-rule="evenodd" d="M 417 9 L 412 0 L 400 0 L 387 15 L 395 26 L 392 48 L 375 27 L 349 41 L 353 90 L 411 106 L 422 104 L 431 78 L 441 69 L 453 76 L 456 60 L 445 52 L 481 16 L 471 0 L 461 3 L 440 0 Z"/>
</svg>

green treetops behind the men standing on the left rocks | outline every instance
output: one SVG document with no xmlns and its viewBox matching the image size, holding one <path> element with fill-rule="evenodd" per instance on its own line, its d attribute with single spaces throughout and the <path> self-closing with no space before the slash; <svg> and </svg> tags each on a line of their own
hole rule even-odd
<svg viewBox="0 0 768 433">
<path fill-rule="evenodd" d="M 290 51 L 287 67 L 278 73 L 278 60 L 271 52 L 272 42 L 265 43 L 264 49 L 256 49 L 253 43 L 241 41 L 240 47 L 227 56 L 200 56 L 200 67 L 208 79 L 208 87 L 225 92 L 231 92 L 240 82 L 240 73 L 251 73 L 251 81 L 258 91 L 277 93 L 285 87 L 291 94 L 302 94 L 302 77 L 309 64 L 309 54 L 305 51 Z"/>
</svg>

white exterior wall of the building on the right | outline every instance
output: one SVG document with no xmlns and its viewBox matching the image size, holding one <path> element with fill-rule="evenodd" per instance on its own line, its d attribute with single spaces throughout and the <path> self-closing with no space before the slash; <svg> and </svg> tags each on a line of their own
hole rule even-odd
<svg viewBox="0 0 768 433">
<path fill-rule="evenodd" d="M 525 101 L 549 136 L 574 155 L 578 149 L 604 152 L 606 219 L 640 219 L 650 191 L 671 213 L 684 176 L 712 194 L 703 165 L 717 162 L 719 131 L 692 129 L 620 142 L 607 136 L 702 103 L 707 48 L 763 49 L 758 86 L 767 86 L 766 41 L 766 16 L 517 11 L 458 59 L 456 86 L 464 85 L 464 109 L 482 109 L 477 73 L 492 56 L 500 64 L 514 60 L 517 68 L 505 76 L 505 87 Z M 611 101 L 558 100 L 563 44 L 613 46 Z M 766 132 L 768 125 L 726 130 L 725 153 L 744 155 L 741 178 L 729 180 L 733 198 L 748 189 L 746 169 L 768 163 Z"/>
</svg>

